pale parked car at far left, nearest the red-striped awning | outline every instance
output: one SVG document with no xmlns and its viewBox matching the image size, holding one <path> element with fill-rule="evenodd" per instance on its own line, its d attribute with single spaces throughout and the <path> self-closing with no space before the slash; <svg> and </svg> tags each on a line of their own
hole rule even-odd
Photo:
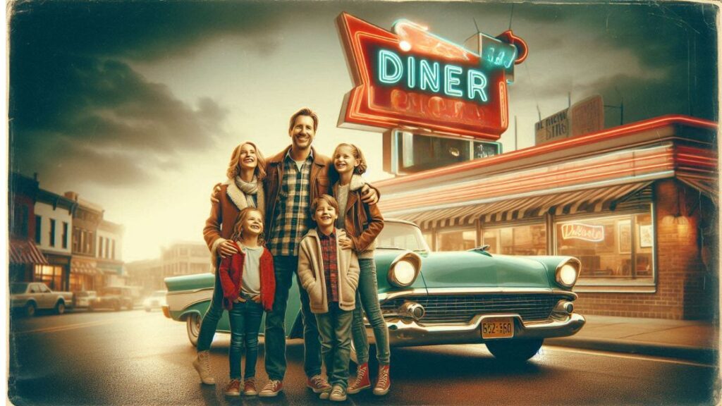
<svg viewBox="0 0 722 406">
<path fill-rule="evenodd" d="M 64 314 L 66 308 L 73 306 L 73 294 L 53 292 L 43 282 L 17 282 L 10 284 L 10 307 L 22 310 L 26 316 L 35 316 L 40 309 L 53 309 Z"/>
</svg>

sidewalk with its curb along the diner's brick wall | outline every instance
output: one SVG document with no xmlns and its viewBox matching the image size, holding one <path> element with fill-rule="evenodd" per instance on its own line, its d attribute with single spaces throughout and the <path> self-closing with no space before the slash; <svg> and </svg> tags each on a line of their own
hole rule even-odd
<svg viewBox="0 0 722 406">
<path fill-rule="evenodd" d="M 682 358 L 716 364 L 719 326 L 710 321 L 585 316 L 586 325 L 571 337 L 544 344 Z"/>
</svg>

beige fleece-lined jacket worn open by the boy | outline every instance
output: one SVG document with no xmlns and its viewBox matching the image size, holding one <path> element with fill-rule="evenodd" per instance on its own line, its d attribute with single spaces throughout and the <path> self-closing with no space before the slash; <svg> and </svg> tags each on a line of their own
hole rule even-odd
<svg viewBox="0 0 722 406">
<path fill-rule="evenodd" d="M 336 228 L 336 252 L 339 269 L 339 308 L 351 311 L 356 307 L 356 288 L 359 283 L 359 262 L 352 249 L 342 249 L 339 240 L 346 236 L 344 230 Z M 312 228 L 301 240 L 298 248 L 298 280 L 308 292 L 312 313 L 328 313 L 329 300 L 326 295 L 326 277 L 323 274 L 323 257 L 318 231 Z"/>
</svg>

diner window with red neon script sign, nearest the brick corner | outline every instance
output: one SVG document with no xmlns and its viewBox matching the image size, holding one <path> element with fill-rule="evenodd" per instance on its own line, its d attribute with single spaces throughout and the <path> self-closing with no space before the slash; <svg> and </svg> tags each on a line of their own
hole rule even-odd
<svg viewBox="0 0 722 406">
<path fill-rule="evenodd" d="M 579 284 L 648 285 L 654 281 L 654 230 L 649 213 L 557 222 L 559 255 L 577 257 Z"/>
</svg>

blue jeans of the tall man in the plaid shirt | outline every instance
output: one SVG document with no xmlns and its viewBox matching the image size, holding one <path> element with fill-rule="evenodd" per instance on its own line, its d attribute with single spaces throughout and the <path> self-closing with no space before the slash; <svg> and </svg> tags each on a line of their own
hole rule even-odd
<svg viewBox="0 0 722 406">
<path fill-rule="evenodd" d="M 297 256 L 274 256 L 276 296 L 271 311 L 266 314 L 266 373 L 269 379 L 282 381 L 286 374 L 286 306 L 292 277 L 298 269 Z M 298 284 L 300 286 L 300 283 Z M 303 370 L 311 377 L 321 373 L 321 338 L 316 317 L 308 302 L 308 293 L 299 289 L 303 316 Z"/>
</svg>

